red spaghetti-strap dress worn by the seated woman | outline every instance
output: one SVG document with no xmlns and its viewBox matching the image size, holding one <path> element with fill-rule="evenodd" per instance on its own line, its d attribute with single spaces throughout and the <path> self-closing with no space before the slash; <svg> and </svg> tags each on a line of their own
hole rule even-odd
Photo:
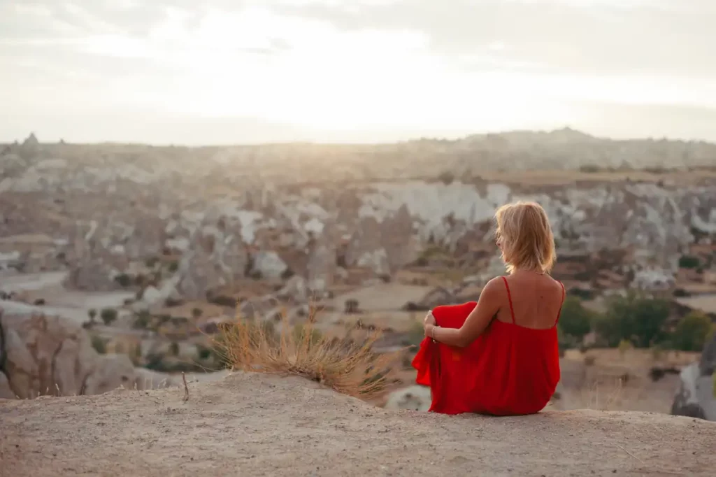
<svg viewBox="0 0 716 477">
<path fill-rule="evenodd" d="M 551 328 L 531 329 L 515 322 L 507 280 L 511 323 L 493 319 L 464 348 L 425 338 L 412 361 L 417 384 L 430 386 L 435 413 L 523 415 L 541 411 L 560 378 L 557 319 Z M 560 283 L 560 285 L 562 285 Z M 562 299 L 564 286 L 562 285 Z M 460 328 L 477 302 L 435 307 L 440 327 Z M 560 307 L 561 312 L 561 307 Z"/>
</svg>

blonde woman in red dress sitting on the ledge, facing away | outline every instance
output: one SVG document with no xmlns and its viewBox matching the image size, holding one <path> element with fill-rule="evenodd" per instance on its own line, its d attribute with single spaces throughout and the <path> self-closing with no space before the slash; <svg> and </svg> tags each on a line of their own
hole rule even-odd
<svg viewBox="0 0 716 477">
<path fill-rule="evenodd" d="M 538 413 L 559 381 L 556 324 L 564 286 L 547 214 L 536 203 L 500 207 L 497 246 L 508 276 L 485 285 L 477 303 L 436 307 L 413 360 L 437 413 Z"/>
</svg>

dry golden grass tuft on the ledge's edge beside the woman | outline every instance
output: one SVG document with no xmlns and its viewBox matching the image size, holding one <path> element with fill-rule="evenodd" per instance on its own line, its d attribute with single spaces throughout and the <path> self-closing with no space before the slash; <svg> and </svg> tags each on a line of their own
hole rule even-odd
<svg viewBox="0 0 716 477">
<path fill-rule="evenodd" d="M 311 306 L 306 322 L 291 327 L 282 312 L 276 332 L 272 322 L 258 324 L 237 312 L 235 321 L 223 324 L 214 337 L 216 352 L 233 370 L 298 375 L 362 399 L 384 390 L 405 350 L 374 352 L 379 331 L 326 337 L 316 328 L 316 314 Z"/>
</svg>

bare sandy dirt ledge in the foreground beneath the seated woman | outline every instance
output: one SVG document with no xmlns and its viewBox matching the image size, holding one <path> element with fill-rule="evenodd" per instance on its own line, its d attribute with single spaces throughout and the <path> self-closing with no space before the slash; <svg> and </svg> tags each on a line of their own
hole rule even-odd
<svg viewBox="0 0 716 477">
<path fill-rule="evenodd" d="M 656 413 L 390 412 L 296 377 L 0 400 L 0 475 L 714 475 L 716 423 Z"/>
</svg>

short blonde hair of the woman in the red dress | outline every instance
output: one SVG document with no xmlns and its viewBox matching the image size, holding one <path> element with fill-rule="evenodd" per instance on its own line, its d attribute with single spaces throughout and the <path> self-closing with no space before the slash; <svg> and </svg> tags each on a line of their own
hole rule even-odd
<svg viewBox="0 0 716 477">
<path fill-rule="evenodd" d="M 503 238 L 502 259 L 507 271 L 549 272 L 557 259 L 549 218 L 535 202 L 517 202 L 495 213 L 497 236 Z"/>
</svg>

